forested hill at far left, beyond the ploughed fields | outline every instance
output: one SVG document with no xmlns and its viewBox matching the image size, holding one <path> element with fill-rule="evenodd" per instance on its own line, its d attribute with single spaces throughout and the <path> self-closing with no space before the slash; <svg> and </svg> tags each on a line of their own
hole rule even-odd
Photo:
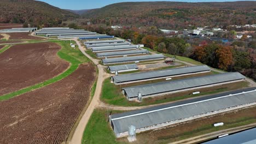
<svg viewBox="0 0 256 144">
<path fill-rule="evenodd" d="M 0 23 L 28 23 L 31 26 L 57 26 L 77 14 L 33 0 L 1 0 Z"/>
</svg>

